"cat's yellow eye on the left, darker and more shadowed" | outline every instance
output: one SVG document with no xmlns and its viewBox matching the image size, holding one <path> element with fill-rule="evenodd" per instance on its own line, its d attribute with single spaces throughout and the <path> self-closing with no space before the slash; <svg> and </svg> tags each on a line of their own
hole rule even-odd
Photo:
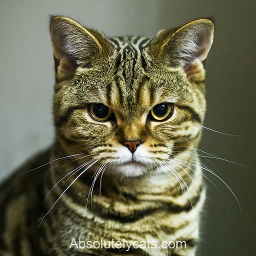
<svg viewBox="0 0 256 256">
<path fill-rule="evenodd" d="M 91 103 L 89 104 L 89 114 L 97 121 L 107 121 L 111 116 L 112 110 L 101 103 Z"/>
</svg>

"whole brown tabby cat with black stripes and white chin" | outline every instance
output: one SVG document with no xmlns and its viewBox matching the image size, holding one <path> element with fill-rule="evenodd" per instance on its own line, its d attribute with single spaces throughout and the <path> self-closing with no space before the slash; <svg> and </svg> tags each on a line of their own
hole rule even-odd
<svg viewBox="0 0 256 256">
<path fill-rule="evenodd" d="M 51 17 L 55 140 L 1 184 L 0 255 L 195 255 L 213 32 L 108 38 Z"/>
</svg>

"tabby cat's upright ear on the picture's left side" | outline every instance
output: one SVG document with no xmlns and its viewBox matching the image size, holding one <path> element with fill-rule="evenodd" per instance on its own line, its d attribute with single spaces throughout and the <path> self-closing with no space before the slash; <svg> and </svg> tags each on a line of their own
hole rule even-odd
<svg viewBox="0 0 256 256">
<path fill-rule="evenodd" d="M 57 81 L 70 78 L 77 66 L 90 66 L 110 47 L 100 32 L 63 16 L 51 18 L 50 37 Z"/>
</svg>

